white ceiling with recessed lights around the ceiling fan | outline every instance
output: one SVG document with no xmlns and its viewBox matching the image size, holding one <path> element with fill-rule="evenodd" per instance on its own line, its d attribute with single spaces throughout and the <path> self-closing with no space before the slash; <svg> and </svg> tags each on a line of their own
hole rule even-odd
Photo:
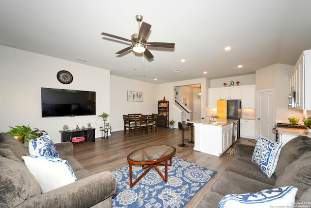
<svg viewBox="0 0 311 208">
<path fill-rule="evenodd" d="M 311 0 L 1 0 L 0 44 L 156 84 L 214 79 L 294 65 L 311 49 L 310 9 Z M 101 35 L 131 39 L 138 14 L 152 25 L 149 42 L 175 43 L 148 47 L 144 65 L 132 51 L 115 54 L 127 42 Z"/>
</svg>

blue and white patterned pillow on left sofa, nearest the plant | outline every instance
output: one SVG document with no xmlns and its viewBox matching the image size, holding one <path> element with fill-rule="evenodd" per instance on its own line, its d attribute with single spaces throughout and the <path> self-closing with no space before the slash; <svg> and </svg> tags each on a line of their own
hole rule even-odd
<svg viewBox="0 0 311 208">
<path fill-rule="evenodd" d="M 30 155 L 58 157 L 58 151 L 51 139 L 51 136 L 46 132 L 36 139 L 31 139 L 28 145 Z"/>
</svg>

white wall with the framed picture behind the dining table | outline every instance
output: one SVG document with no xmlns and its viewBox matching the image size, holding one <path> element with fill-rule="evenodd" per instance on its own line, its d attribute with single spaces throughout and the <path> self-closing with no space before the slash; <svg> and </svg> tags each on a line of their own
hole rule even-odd
<svg viewBox="0 0 311 208">
<path fill-rule="evenodd" d="M 127 101 L 127 91 L 142 92 L 143 102 Z M 156 85 L 124 78 L 110 76 L 110 125 L 112 132 L 123 130 L 123 116 L 128 113 L 157 113 Z"/>
</svg>

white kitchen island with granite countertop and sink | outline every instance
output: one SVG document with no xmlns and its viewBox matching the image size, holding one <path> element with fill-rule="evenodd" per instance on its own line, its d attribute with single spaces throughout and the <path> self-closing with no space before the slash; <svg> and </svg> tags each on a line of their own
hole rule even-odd
<svg viewBox="0 0 311 208">
<path fill-rule="evenodd" d="M 232 144 L 232 128 L 238 120 L 217 119 L 210 122 L 209 119 L 187 121 L 194 125 L 194 148 L 207 154 L 220 156 Z"/>
</svg>

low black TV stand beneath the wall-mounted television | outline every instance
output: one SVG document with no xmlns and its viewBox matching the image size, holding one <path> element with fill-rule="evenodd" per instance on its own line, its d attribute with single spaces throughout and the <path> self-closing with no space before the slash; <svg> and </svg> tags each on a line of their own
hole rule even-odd
<svg viewBox="0 0 311 208">
<path fill-rule="evenodd" d="M 61 134 L 61 142 L 72 142 L 73 137 L 83 136 L 85 137 L 85 141 L 93 141 L 95 142 L 95 128 L 90 129 L 79 129 L 72 131 L 59 131 Z"/>
</svg>

